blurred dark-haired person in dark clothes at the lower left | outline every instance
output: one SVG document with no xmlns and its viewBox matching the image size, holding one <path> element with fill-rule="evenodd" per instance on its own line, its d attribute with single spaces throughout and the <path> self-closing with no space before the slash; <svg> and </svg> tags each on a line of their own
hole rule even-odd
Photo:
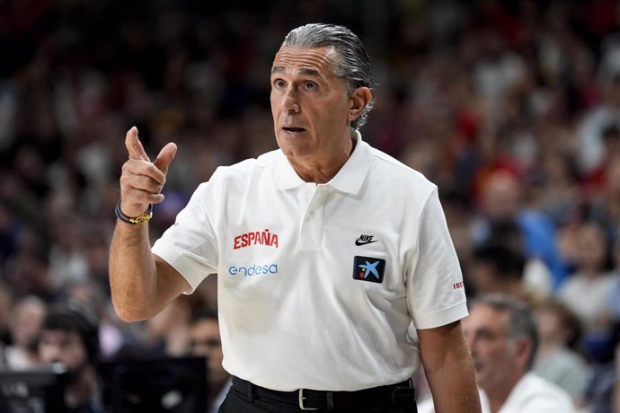
<svg viewBox="0 0 620 413">
<path fill-rule="evenodd" d="M 58 303 L 49 308 L 39 338 L 42 364 L 61 363 L 68 373 L 65 404 L 71 413 L 101 411 L 96 363 L 99 329 L 93 314 L 77 303 Z"/>
</svg>

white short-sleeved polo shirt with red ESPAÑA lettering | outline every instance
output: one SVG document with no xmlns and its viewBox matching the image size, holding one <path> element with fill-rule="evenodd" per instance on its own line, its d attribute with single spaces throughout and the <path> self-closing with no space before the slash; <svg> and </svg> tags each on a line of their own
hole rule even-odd
<svg viewBox="0 0 620 413">
<path fill-rule="evenodd" d="M 437 187 L 354 138 L 326 184 L 279 150 L 218 168 L 155 242 L 192 288 L 217 273 L 229 373 L 279 391 L 403 382 L 415 328 L 467 314 Z"/>
</svg>

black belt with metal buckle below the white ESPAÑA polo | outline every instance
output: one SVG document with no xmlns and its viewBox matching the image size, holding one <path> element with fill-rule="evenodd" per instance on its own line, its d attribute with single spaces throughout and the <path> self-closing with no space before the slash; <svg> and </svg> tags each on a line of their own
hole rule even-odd
<svg viewBox="0 0 620 413">
<path fill-rule="evenodd" d="M 415 389 L 410 381 L 359 391 L 277 391 L 257 386 L 233 376 L 233 388 L 248 398 L 264 398 L 298 406 L 301 410 L 369 409 L 374 406 L 397 406 L 416 411 Z"/>
</svg>

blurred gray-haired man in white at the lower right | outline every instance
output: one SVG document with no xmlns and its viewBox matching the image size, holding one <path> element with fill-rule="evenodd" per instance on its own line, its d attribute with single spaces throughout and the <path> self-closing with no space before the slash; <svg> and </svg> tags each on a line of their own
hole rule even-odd
<svg viewBox="0 0 620 413">
<path fill-rule="evenodd" d="M 530 372 L 538 337 L 534 315 L 525 303 L 501 294 L 484 295 L 470 308 L 463 330 L 489 411 L 575 411 L 568 393 Z"/>
</svg>

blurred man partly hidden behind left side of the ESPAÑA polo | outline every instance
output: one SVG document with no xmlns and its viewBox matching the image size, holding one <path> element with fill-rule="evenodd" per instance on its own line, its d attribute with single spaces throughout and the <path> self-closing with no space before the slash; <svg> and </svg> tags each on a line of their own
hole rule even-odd
<svg viewBox="0 0 620 413">
<path fill-rule="evenodd" d="M 230 374 L 222 366 L 222 341 L 215 310 L 204 309 L 190 322 L 190 352 L 207 358 L 208 413 L 216 413 L 230 387 Z"/>
</svg>

